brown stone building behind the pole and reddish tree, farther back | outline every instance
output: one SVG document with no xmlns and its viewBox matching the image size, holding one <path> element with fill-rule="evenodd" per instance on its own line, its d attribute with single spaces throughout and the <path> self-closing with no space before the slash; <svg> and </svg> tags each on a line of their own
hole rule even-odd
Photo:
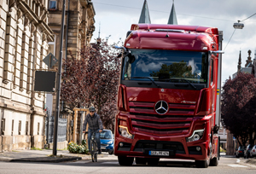
<svg viewBox="0 0 256 174">
<path fill-rule="evenodd" d="M 53 31 L 54 40 L 49 42 L 49 52 L 57 59 L 60 57 L 61 43 L 61 14 L 63 0 L 49 0 L 49 27 Z M 90 0 L 66 0 L 66 16 L 63 38 L 63 59 L 68 59 L 72 55 L 79 59 L 79 51 L 84 48 L 84 45 L 89 45 L 93 32 L 95 31 L 96 15 L 93 3 Z M 64 70 L 63 70 L 64 71 Z M 81 126 L 84 119 L 84 114 L 79 113 L 78 118 L 73 117 L 73 108 L 67 106 L 68 103 L 61 102 L 62 119 L 67 119 L 67 142 L 73 140 L 73 137 L 78 137 L 76 140 L 81 142 L 82 129 Z M 47 109 L 49 109 L 49 117 L 55 115 L 55 96 L 47 94 Z M 65 108 L 65 109 L 64 109 Z M 68 108 L 68 109 L 67 109 Z M 75 121 L 74 121 L 75 120 Z M 77 127 L 73 131 L 73 127 Z M 73 136 L 76 134 L 76 136 Z M 73 141 L 76 141 L 73 140 Z M 67 142 L 58 142 L 58 147 L 67 146 Z M 52 142 L 49 142 L 49 147 Z"/>
</svg>

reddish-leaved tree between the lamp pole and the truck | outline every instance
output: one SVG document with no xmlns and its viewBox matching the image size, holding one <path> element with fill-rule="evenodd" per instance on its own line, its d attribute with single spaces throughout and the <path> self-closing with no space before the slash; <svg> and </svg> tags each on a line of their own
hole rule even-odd
<svg viewBox="0 0 256 174">
<path fill-rule="evenodd" d="M 100 44 L 84 46 L 80 58 L 72 53 L 64 61 L 66 70 L 62 77 L 61 99 L 72 107 L 96 107 L 103 125 L 113 130 L 114 115 L 117 112 L 116 96 L 119 84 L 120 59 L 111 45 Z"/>
</svg>

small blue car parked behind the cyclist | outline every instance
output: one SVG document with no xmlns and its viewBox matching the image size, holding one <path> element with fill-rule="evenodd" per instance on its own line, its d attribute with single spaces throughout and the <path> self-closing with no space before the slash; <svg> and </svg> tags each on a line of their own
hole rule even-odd
<svg viewBox="0 0 256 174">
<path fill-rule="evenodd" d="M 102 152 L 113 154 L 113 134 L 110 130 L 103 130 L 100 133 Z"/>
</svg>

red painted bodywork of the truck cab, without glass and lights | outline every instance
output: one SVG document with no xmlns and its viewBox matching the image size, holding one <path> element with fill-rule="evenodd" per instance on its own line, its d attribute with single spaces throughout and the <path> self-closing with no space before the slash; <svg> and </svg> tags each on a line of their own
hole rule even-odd
<svg viewBox="0 0 256 174">
<path fill-rule="evenodd" d="M 155 29 L 176 29 L 185 32 L 155 32 Z M 218 29 L 204 26 L 175 26 L 134 24 L 133 31 L 125 40 L 128 49 L 170 49 L 184 51 L 218 50 Z M 209 34 L 210 33 L 210 34 Z M 212 38 L 214 37 L 214 38 Z M 207 49 L 206 49 L 207 48 Z M 207 159 L 209 142 L 212 142 L 212 158 L 218 154 L 218 136 L 212 136 L 215 125 L 218 57 L 214 61 L 213 83 L 203 90 L 173 90 L 157 88 L 136 88 L 119 85 L 118 108 L 115 122 L 114 154 L 130 157 L 154 158 L 133 151 L 138 140 L 181 142 L 185 154 L 176 154 L 173 159 Z M 211 71 L 210 71 L 211 72 Z M 164 90 L 164 91 L 162 91 Z M 156 102 L 165 101 L 169 111 L 163 118 L 154 110 Z M 152 116 L 153 115 L 153 116 Z M 169 117 L 166 117 L 169 115 Z M 172 117 L 173 116 L 173 117 Z M 143 122 L 142 122 L 143 121 Z M 159 125 L 160 123 L 166 124 Z M 123 125 L 134 135 L 133 139 L 119 135 L 118 126 Z M 143 128 L 142 128 L 143 127 Z M 162 130 L 162 131 L 154 131 Z M 170 131 L 165 131 L 168 129 Z M 173 129 L 173 131 L 172 131 Z M 199 141 L 186 142 L 193 131 L 205 129 Z M 119 142 L 131 143 L 130 151 L 120 151 Z M 200 146 L 201 155 L 189 154 L 188 147 Z"/>
</svg>

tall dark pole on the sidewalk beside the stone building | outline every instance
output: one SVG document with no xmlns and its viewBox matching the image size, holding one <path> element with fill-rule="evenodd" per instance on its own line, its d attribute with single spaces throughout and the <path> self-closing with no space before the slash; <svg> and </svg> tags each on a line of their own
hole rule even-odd
<svg viewBox="0 0 256 174">
<path fill-rule="evenodd" d="M 66 0 L 63 0 L 62 15 L 61 15 L 60 55 L 59 55 L 59 65 L 58 65 L 57 82 L 56 82 L 55 128 L 54 128 L 55 131 L 54 131 L 53 155 L 57 155 L 58 122 L 59 122 L 59 115 L 60 115 L 60 95 L 61 95 L 62 46 L 63 46 L 65 13 L 66 13 Z"/>
</svg>

